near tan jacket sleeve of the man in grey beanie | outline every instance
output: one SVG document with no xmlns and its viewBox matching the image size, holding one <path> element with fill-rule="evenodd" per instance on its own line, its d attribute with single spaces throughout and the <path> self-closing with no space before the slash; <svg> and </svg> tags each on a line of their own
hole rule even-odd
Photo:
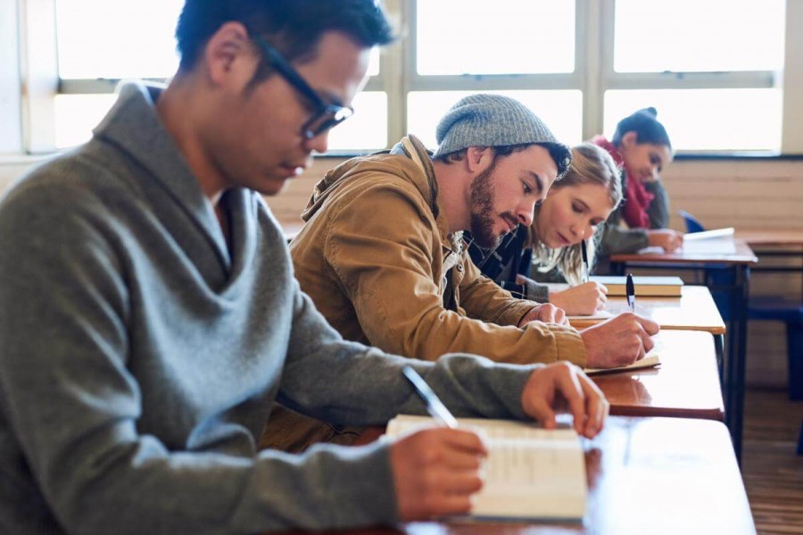
<svg viewBox="0 0 803 535">
<path fill-rule="evenodd" d="M 432 269 L 434 247 L 442 247 L 435 223 L 423 201 L 403 186 L 377 180 L 328 217 L 324 255 L 372 345 L 426 360 L 466 352 L 509 363 L 584 364 L 582 339 L 569 327 L 532 322 L 519 329 L 446 310 Z M 499 317 L 520 318 L 532 307 L 491 297 L 480 284 L 474 310 L 483 299 Z"/>
</svg>

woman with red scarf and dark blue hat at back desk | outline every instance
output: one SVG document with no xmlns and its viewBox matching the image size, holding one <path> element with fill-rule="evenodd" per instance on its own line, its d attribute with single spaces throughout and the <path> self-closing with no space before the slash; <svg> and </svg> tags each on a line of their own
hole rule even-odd
<svg viewBox="0 0 803 535">
<path fill-rule="evenodd" d="M 605 225 L 602 255 L 634 253 L 644 247 L 671 252 L 683 245 L 683 234 L 666 228 L 669 203 L 658 173 L 672 161 L 672 144 L 657 115 L 655 108 L 639 110 L 619 121 L 610 141 L 602 136 L 592 139 L 623 168 L 625 200 Z"/>
</svg>

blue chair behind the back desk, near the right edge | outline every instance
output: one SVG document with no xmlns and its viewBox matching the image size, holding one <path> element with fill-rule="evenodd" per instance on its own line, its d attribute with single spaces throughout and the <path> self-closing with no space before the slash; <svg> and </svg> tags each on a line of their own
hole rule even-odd
<svg viewBox="0 0 803 535">
<path fill-rule="evenodd" d="M 701 232 L 705 230 L 702 224 L 691 213 L 683 210 L 678 212 L 683 217 L 687 232 Z M 709 285 L 724 286 L 729 273 L 720 272 L 716 266 L 707 266 L 707 283 Z M 728 296 L 712 289 L 716 306 L 725 321 L 730 315 Z M 789 362 L 789 397 L 790 399 L 803 399 L 803 303 L 799 301 L 784 300 L 777 297 L 750 297 L 748 303 L 748 319 L 783 322 L 786 324 L 787 360 Z M 803 441 L 803 429 L 801 429 Z M 803 448 L 803 442 L 798 449 Z"/>
</svg>

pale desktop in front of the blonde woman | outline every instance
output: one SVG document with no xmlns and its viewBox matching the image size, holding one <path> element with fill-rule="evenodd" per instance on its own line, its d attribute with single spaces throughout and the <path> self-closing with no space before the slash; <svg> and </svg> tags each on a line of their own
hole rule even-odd
<svg viewBox="0 0 803 535">
<path fill-rule="evenodd" d="M 628 312 L 625 297 L 608 297 L 605 310 L 613 315 Z M 724 334 L 725 324 L 716 308 L 711 292 L 705 286 L 684 286 L 681 297 L 638 297 L 636 313 L 658 322 L 666 330 L 704 330 L 711 334 Z M 583 329 L 607 318 L 573 316 L 572 327 Z"/>
</svg>

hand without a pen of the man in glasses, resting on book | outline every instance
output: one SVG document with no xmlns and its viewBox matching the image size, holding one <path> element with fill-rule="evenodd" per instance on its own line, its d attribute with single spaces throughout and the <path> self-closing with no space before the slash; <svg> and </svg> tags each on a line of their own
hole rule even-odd
<svg viewBox="0 0 803 535">
<path fill-rule="evenodd" d="M 525 413 L 555 428 L 555 414 L 569 412 L 575 431 L 592 439 L 602 431 L 608 416 L 608 400 L 601 390 L 575 364 L 561 361 L 537 368 L 521 394 Z"/>
</svg>

